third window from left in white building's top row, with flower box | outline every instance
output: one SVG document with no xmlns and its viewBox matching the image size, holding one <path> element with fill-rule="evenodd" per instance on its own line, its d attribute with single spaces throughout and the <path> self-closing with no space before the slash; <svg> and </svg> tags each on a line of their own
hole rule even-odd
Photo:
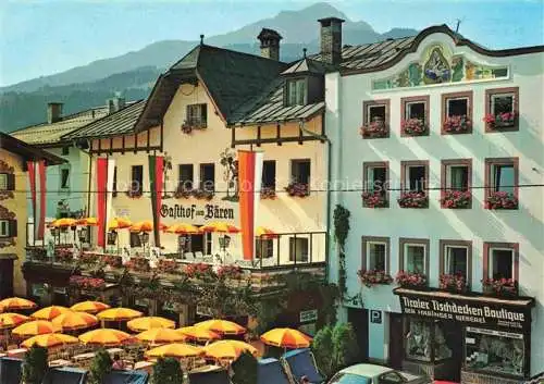
<svg viewBox="0 0 544 384">
<path fill-rule="evenodd" d="M 471 123 L 472 91 L 442 95 L 442 134 L 472 133 Z"/>
</svg>

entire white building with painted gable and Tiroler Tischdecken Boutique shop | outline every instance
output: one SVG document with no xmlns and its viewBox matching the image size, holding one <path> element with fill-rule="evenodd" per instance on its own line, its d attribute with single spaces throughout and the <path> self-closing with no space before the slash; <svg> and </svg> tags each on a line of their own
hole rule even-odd
<svg viewBox="0 0 544 384">
<path fill-rule="evenodd" d="M 325 126 L 331 179 L 348 190 L 330 214 L 350 212 L 354 298 L 341 319 L 370 360 L 436 380 L 544 371 L 544 47 L 487 50 L 435 26 L 336 58 Z M 401 287 L 372 283 L 399 271 Z"/>
</svg>

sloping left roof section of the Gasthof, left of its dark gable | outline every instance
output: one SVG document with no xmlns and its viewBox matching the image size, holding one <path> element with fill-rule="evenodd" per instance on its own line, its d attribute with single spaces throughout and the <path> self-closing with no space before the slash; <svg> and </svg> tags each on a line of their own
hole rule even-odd
<svg viewBox="0 0 544 384">
<path fill-rule="evenodd" d="M 98 138 L 134 133 L 134 125 L 144 110 L 145 100 L 139 100 L 127 107 L 91 122 L 62 137 L 63 140 L 78 138 Z"/>
</svg>

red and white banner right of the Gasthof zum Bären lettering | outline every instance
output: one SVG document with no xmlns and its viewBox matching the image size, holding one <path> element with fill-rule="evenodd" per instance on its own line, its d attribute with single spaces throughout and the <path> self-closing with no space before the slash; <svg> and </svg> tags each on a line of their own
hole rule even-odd
<svg viewBox="0 0 544 384">
<path fill-rule="evenodd" d="M 259 208 L 262 152 L 238 150 L 238 196 L 244 260 L 255 257 L 255 228 Z"/>
</svg>

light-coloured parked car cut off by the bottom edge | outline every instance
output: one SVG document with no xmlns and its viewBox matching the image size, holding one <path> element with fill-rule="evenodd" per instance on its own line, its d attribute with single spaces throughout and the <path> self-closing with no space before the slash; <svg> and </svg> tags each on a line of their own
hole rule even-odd
<svg viewBox="0 0 544 384">
<path fill-rule="evenodd" d="M 428 384 L 426 375 L 416 375 L 388 367 L 356 364 L 337 372 L 327 384 Z"/>
</svg>

